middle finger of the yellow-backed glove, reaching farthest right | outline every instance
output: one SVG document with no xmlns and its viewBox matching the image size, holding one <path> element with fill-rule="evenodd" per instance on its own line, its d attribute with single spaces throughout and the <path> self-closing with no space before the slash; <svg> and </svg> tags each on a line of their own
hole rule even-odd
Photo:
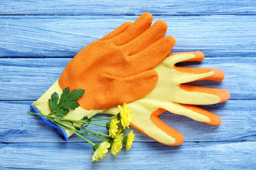
<svg viewBox="0 0 256 170">
<path fill-rule="evenodd" d="M 180 89 L 172 100 L 191 105 L 212 105 L 230 99 L 230 92 L 224 89 L 202 88 L 180 84 Z"/>
</svg>

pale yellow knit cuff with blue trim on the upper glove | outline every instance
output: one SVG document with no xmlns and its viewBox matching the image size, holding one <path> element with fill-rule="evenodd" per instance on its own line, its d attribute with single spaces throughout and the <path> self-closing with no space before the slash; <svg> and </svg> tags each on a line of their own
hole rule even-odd
<svg viewBox="0 0 256 170">
<path fill-rule="evenodd" d="M 51 113 L 51 108 L 49 107 L 49 99 L 51 98 L 51 95 L 57 92 L 59 95 L 59 98 L 62 94 L 62 89 L 57 81 L 50 87 L 37 101 L 33 102 L 30 107 L 35 111 L 35 113 L 39 114 L 45 114 L 48 115 Z M 66 119 L 73 119 L 73 120 L 80 120 L 84 116 L 87 116 L 88 118 L 91 118 L 92 116 L 96 115 L 97 113 L 102 113 L 104 110 L 90 110 L 87 111 L 81 107 L 76 108 L 75 110 L 70 110 L 70 112 L 67 115 L 64 115 L 64 118 Z M 55 116 L 53 114 L 52 116 Z M 58 126 L 55 123 L 49 121 L 44 116 L 39 116 L 41 121 L 44 122 L 47 125 L 52 126 L 55 131 L 58 133 L 58 135 L 63 139 L 64 141 L 67 141 L 68 137 L 70 137 L 73 133 L 70 130 L 67 130 L 64 127 Z M 80 126 L 81 123 L 74 122 L 74 125 Z"/>
</svg>

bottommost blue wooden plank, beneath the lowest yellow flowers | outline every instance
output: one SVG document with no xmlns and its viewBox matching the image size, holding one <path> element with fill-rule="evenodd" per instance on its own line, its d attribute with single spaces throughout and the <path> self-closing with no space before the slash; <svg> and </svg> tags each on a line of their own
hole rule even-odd
<svg viewBox="0 0 256 170">
<path fill-rule="evenodd" d="M 0 144 L 0 168 L 19 170 L 253 170 L 256 142 L 188 142 L 180 147 L 135 142 L 130 151 L 90 162 L 88 143 Z"/>
</svg>

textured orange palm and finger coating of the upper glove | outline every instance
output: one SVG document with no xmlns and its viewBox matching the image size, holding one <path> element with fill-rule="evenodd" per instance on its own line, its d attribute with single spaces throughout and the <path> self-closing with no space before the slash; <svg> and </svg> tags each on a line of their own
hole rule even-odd
<svg viewBox="0 0 256 170">
<path fill-rule="evenodd" d="M 172 36 L 164 37 L 166 23 L 151 26 L 152 20 L 146 12 L 82 49 L 58 79 L 60 87 L 84 89 L 77 102 L 86 110 L 111 108 L 148 94 L 158 80 L 151 69 L 175 45 Z"/>
</svg>

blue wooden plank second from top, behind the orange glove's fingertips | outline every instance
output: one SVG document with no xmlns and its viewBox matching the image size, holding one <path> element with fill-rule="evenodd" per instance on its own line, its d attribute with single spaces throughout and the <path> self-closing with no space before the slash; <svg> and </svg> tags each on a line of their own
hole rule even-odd
<svg viewBox="0 0 256 170">
<path fill-rule="evenodd" d="M 137 16 L 1 16 L 0 57 L 73 57 Z M 255 57 L 255 16 L 155 16 L 176 38 L 173 52 Z"/>
</svg>

